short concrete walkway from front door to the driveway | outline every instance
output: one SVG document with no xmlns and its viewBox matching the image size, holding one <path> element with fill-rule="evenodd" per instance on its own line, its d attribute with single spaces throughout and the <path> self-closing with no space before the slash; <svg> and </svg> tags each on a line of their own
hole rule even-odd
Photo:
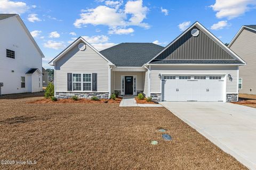
<svg viewBox="0 0 256 170">
<path fill-rule="evenodd" d="M 134 96 L 124 96 L 120 105 L 120 107 L 163 107 L 159 104 L 137 104 Z"/>
</svg>

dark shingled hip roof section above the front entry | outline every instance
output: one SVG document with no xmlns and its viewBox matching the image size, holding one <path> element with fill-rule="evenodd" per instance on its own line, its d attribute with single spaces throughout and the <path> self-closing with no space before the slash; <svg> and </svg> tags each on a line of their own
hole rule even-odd
<svg viewBox="0 0 256 170">
<path fill-rule="evenodd" d="M 153 43 L 121 43 L 100 53 L 116 66 L 141 67 L 163 48 Z"/>
</svg>

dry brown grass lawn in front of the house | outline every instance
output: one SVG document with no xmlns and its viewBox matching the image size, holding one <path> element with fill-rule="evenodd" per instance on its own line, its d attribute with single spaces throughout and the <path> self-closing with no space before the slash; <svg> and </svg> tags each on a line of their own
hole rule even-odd
<svg viewBox="0 0 256 170">
<path fill-rule="evenodd" d="M 0 160 L 37 161 L 0 169 L 246 169 L 165 108 L 41 98 L 0 97 Z"/>
</svg>

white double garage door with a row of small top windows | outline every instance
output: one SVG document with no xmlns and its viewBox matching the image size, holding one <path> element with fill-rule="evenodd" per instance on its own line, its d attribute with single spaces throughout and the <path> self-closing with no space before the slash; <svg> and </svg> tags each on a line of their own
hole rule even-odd
<svg viewBox="0 0 256 170">
<path fill-rule="evenodd" d="M 221 75 L 163 75 L 164 101 L 223 101 Z"/>
</svg>

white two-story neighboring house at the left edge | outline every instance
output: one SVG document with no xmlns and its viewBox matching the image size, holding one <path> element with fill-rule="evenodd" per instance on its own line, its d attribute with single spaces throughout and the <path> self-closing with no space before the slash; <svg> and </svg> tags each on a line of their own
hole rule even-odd
<svg viewBox="0 0 256 170">
<path fill-rule="evenodd" d="M 40 48 L 17 14 L 0 14 L 2 94 L 42 91 Z"/>
</svg>

